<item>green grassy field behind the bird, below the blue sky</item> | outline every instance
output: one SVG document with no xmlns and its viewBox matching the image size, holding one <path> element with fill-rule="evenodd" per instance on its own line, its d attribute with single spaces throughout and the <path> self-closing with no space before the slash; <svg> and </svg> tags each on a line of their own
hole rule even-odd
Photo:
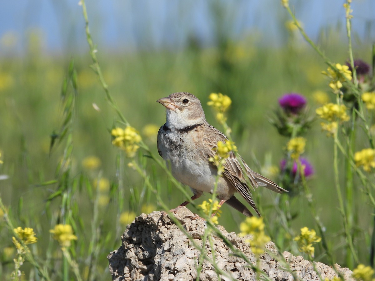
<svg viewBox="0 0 375 281">
<path fill-rule="evenodd" d="M 317 43 L 333 63 L 345 64 L 349 60 L 347 43 L 332 34 L 322 34 Z M 322 243 L 318 243 L 315 261 L 329 264 L 333 260 L 353 270 L 358 263 L 369 264 L 374 229 L 374 205 L 370 199 L 374 194 L 371 184 L 374 177 L 364 172 L 370 182 L 370 188 L 364 188 L 355 171 L 353 186 L 347 188 L 345 156 L 339 152 L 341 195 L 338 194 L 334 181 L 333 138 L 321 131 L 321 120 L 315 114 L 315 109 L 321 106 L 314 99 L 316 91 L 325 91 L 330 101 L 336 103 L 336 96 L 328 86 L 329 79 L 321 74 L 327 65 L 299 34 L 286 33 L 285 36 L 288 43 L 280 47 L 260 46 L 250 35 L 239 42 L 223 39 L 220 47 L 199 48 L 191 44 L 176 51 L 114 53 L 98 45 L 97 55 L 111 97 L 157 157 L 156 134 L 147 136 L 144 132 L 147 125 L 158 128 L 165 123 L 165 109 L 156 103 L 157 99 L 174 92 L 192 93 L 201 100 L 207 121 L 223 130 L 215 120 L 215 112 L 207 105 L 210 93 L 223 93 L 232 100 L 227 124 L 240 155 L 252 169 L 267 173 L 271 166 L 279 167 L 289 140 L 279 135 L 269 121 L 275 117 L 278 99 L 291 92 L 305 96 L 308 115 L 316 118 L 312 128 L 303 135 L 307 139 L 303 157 L 315 170 L 314 175 L 307 178 L 308 189 L 279 195 L 259 188 L 254 193 L 255 202 L 266 222 L 267 235 L 281 251 L 301 254 L 293 238 L 305 226 L 318 233 L 314 219 L 318 217 L 329 254 Z M 111 143 L 110 130 L 124 125 L 118 123 L 120 118 L 108 103 L 96 73 L 90 69 L 92 60 L 88 52 L 69 56 L 44 54 L 40 44 L 35 43 L 37 40 L 30 39 L 23 56 L 1 58 L 0 160 L 3 163 L 0 175 L 5 178 L 0 181 L 1 200 L 14 227 L 34 229 L 38 241 L 29 245 L 31 253 L 52 279 L 65 277 L 62 269 L 69 266 L 49 230 L 58 223 L 67 223 L 73 226 L 78 237 L 69 251 L 79 265 L 83 280 L 110 280 L 107 255 L 119 247 L 127 223 L 126 215 L 122 221 L 120 215 L 130 212 L 130 223 L 134 215 L 145 211 L 144 206 L 151 205 L 147 212 L 161 210 L 162 206 L 144 178 L 128 167 L 131 160 Z M 371 63 L 371 45 L 356 43 L 353 53 L 354 58 Z M 68 87 L 63 99 L 66 78 Z M 373 124 L 370 110 L 366 118 L 365 123 L 358 120 L 354 152 L 369 147 L 362 126 Z M 347 127 L 342 128 L 347 130 Z M 61 128 L 66 129 L 64 136 Z M 339 138 L 345 148 L 345 132 L 340 131 Z M 139 149 L 137 163 L 165 199 L 163 203 L 168 208 L 176 207 L 186 197 L 174 188 L 154 160 L 145 157 L 147 154 Z M 91 156 L 100 159 L 100 165 L 94 169 L 83 163 Z M 279 173 L 266 176 L 281 181 Z M 102 182 L 103 186 L 96 188 L 98 178 L 108 179 L 109 186 Z M 187 187 L 186 191 L 191 194 Z M 348 249 L 348 232 L 340 212 L 339 196 L 357 257 Z M 202 196 L 197 201 L 200 204 L 208 198 Z M 279 209 L 285 202 L 289 206 L 288 220 L 286 209 Z M 189 208 L 198 212 L 194 206 Z M 245 216 L 225 205 L 222 211 L 219 224 L 228 232 L 238 233 Z M 287 224 L 281 223 L 284 220 Z M 10 280 L 17 254 L 12 243 L 14 234 L 9 227 L 7 219 L 0 218 L 0 276 L 6 277 L 5 280 Z M 30 262 L 25 262 L 21 270 L 25 272 L 23 280 L 40 280 Z"/>
</svg>

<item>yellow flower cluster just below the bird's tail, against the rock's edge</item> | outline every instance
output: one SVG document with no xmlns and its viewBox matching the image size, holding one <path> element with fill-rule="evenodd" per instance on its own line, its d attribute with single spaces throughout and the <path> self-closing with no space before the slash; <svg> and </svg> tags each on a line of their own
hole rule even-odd
<svg viewBox="0 0 375 281">
<path fill-rule="evenodd" d="M 254 254 L 260 255 L 264 253 L 264 247 L 271 239 L 264 233 L 263 218 L 246 218 L 246 220 L 240 224 L 240 231 L 240 236 L 252 235 L 252 239 L 246 239 L 245 242 L 250 243 L 251 250 Z"/>
</svg>

